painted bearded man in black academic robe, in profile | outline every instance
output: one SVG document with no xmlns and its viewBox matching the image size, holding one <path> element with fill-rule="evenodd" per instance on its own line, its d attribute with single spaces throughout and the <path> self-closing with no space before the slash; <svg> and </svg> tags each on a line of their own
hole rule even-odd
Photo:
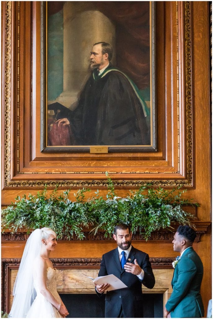
<svg viewBox="0 0 213 319">
<path fill-rule="evenodd" d="M 137 86 L 112 66 L 111 58 L 109 43 L 93 45 L 91 75 L 77 107 L 68 110 L 58 125 L 70 125 L 75 145 L 150 145 L 146 103 Z"/>
</svg>

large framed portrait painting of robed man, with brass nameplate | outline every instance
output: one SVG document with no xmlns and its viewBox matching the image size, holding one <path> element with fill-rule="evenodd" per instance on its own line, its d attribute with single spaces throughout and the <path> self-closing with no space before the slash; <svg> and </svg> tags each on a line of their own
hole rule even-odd
<svg viewBox="0 0 213 319">
<path fill-rule="evenodd" d="M 42 6 L 41 150 L 156 152 L 149 1 Z"/>
</svg>

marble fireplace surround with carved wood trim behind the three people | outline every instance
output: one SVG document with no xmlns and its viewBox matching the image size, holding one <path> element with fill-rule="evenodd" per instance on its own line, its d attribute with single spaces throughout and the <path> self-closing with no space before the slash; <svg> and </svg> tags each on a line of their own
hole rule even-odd
<svg viewBox="0 0 213 319">
<path fill-rule="evenodd" d="M 142 287 L 143 293 L 162 293 L 163 305 L 166 304 L 172 293 L 171 280 L 174 271 L 172 262 L 174 259 L 174 257 L 151 257 L 155 286 L 153 289 Z M 2 310 L 6 313 L 11 308 L 13 285 L 20 260 L 20 258 L 2 259 Z M 93 282 L 86 276 L 97 277 L 101 258 L 51 258 L 51 261 L 59 270 L 59 293 L 95 293 Z"/>
</svg>

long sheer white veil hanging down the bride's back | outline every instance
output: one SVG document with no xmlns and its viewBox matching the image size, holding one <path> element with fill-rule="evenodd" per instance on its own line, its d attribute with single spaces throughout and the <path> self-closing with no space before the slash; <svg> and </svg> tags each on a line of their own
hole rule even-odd
<svg viewBox="0 0 213 319">
<path fill-rule="evenodd" d="M 36 297 L 33 288 L 33 269 L 35 258 L 40 255 L 42 233 L 42 229 L 34 230 L 26 242 L 13 288 L 14 299 L 9 313 L 10 318 L 25 318 Z"/>
</svg>

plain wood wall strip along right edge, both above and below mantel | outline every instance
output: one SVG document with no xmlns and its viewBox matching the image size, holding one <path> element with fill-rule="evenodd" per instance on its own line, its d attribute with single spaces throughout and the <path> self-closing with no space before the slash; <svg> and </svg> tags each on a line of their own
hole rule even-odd
<svg viewBox="0 0 213 319">
<path fill-rule="evenodd" d="M 209 91 L 209 8 L 208 2 L 193 2 L 193 116 L 195 134 L 195 189 L 192 197 L 201 204 L 199 219 L 211 220 L 210 170 L 210 91 Z M 204 265 L 201 295 L 205 308 L 211 299 L 211 230 L 198 245 L 197 252 Z M 206 289 L 208 287 L 208 289 Z"/>
</svg>

